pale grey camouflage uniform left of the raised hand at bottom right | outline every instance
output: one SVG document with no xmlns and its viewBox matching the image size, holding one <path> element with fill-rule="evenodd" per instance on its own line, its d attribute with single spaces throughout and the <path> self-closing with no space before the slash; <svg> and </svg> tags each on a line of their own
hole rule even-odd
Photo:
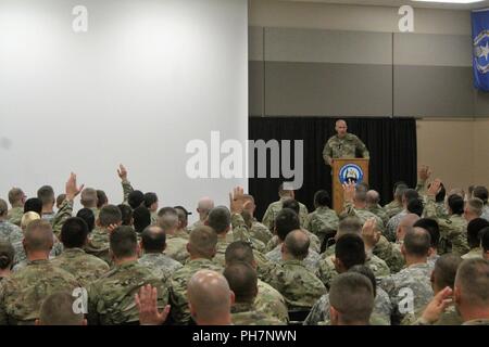
<svg viewBox="0 0 489 347">
<path fill-rule="evenodd" d="M 394 314 L 397 322 L 401 322 L 404 314 L 404 309 L 408 308 L 406 304 L 413 304 L 413 312 L 428 305 L 432 299 L 432 288 L 430 282 L 431 268 L 428 264 L 415 264 L 412 265 L 399 273 L 385 278 L 381 281 L 383 288 L 389 294 L 390 300 L 394 308 Z M 409 301 L 409 292 L 411 290 L 413 294 L 413 301 Z"/>
</svg>

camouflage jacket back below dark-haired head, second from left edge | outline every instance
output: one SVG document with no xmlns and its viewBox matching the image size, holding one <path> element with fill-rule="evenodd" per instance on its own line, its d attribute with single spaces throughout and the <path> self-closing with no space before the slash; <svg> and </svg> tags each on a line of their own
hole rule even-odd
<svg viewBox="0 0 489 347">
<path fill-rule="evenodd" d="M 109 271 L 109 265 L 89 254 L 82 248 L 67 248 L 51 264 L 75 277 L 84 287 L 100 279 L 102 274 Z"/>
</svg>

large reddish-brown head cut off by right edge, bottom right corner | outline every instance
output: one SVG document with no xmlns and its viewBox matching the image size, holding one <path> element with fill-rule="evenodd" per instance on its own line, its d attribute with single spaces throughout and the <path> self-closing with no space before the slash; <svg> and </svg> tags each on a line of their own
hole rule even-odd
<svg viewBox="0 0 489 347">
<path fill-rule="evenodd" d="M 464 321 L 489 318 L 488 287 L 489 261 L 474 258 L 464 260 L 456 271 L 454 290 L 455 305 Z"/>
</svg>

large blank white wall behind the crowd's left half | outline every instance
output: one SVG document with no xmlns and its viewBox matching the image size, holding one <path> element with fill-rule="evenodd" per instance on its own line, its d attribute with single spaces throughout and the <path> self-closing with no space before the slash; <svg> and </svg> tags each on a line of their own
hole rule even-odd
<svg viewBox="0 0 489 347">
<path fill-rule="evenodd" d="M 75 171 L 120 203 L 124 163 L 160 206 L 227 204 L 247 180 L 188 179 L 186 144 L 248 138 L 247 31 L 246 0 L 1 0 L 0 196 Z"/>
</svg>

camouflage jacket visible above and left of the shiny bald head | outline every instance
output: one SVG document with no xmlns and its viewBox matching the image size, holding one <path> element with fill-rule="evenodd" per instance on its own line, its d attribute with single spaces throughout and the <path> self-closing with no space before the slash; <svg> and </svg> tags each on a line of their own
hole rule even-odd
<svg viewBox="0 0 489 347">
<path fill-rule="evenodd" d="M 170 303 L 172 305 L 172 318 L 178 325 L 186 325 L 190 321 L 188 309 L 187 284 L 192 275 L 199 270 L 213 270 L 222 272 L 223 268 L 209 259 L 199 258 L 187 261 L 187 264 L 174 272 L 170 287 Z"/>
</svg>

